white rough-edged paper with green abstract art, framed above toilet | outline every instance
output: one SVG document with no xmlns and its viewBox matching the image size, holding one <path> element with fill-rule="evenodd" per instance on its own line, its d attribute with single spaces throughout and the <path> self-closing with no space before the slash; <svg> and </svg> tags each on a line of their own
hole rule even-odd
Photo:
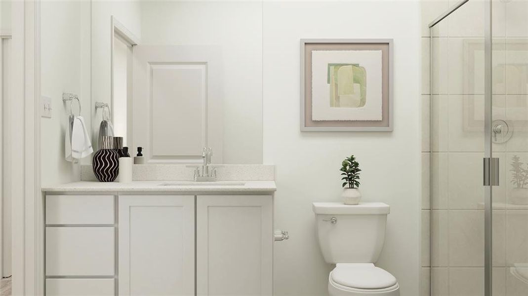
<svg viewBox="0 0 528 296">
<path fill-rule="evenodd" d="M 381 50 L 312 51 L 312 120 L 382 120 L 382 60 Z"/>
</svg>

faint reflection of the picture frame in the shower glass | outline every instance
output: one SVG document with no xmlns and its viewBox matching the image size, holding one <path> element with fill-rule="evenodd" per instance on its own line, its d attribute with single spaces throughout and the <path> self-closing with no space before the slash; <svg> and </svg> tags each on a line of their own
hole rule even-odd
<svg viewBox="0 0 528 296">
<path fill-rule="evenodd" d="M 484 131 L 484 41 L 467 38 L 462 43 L 462 78 L 460 100 L 463 101 L 464 132 Z M 493 43 L 493 106 L 494 119 L 511 123 L 517 131 L 528 127 L 528 63 L 526 63 L 528 40 L 497 39 Z M 517 77 L 516 81 L 507 77 Z M 435 95 L 437 97 L 440 95 Z M 443 96 L 443 94 L 442 94 Z M 433 98 L 431 98 L 432 100 Z"/>
</svg>

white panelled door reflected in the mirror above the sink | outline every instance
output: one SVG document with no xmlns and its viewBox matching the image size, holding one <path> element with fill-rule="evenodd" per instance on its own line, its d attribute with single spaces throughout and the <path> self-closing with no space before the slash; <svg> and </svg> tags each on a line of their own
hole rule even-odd
<svg viewBox="0 0 528 296">
<path fill-rule="evenodd" d="M 221 53 L 213 45 L 134 46 L 134 145 L 147 164 L 222 163 Z"/>
</svg>

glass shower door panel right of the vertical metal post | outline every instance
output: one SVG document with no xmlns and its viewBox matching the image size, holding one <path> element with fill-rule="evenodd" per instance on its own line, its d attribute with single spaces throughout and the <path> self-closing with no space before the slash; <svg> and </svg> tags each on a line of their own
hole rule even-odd
<svg viewBox="0 0 528 296">
<path fill-rule="evenodd" d="M 528 295 L 528 1 L 492 4 L 493 295 Z"/>
</svg>

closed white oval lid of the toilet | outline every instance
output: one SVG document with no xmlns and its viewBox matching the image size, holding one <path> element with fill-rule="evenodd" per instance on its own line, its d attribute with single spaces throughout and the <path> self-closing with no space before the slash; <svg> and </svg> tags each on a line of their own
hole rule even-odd
<svg viewBox="0 0 528 296">
<path fill-rule="evenodd" d="M 338 265 L 332 271 L 332 280 L 345 287 L 357 289 L 383 289 L 397 284 L 392 274 L 373 265 Z"/>
</svg>

